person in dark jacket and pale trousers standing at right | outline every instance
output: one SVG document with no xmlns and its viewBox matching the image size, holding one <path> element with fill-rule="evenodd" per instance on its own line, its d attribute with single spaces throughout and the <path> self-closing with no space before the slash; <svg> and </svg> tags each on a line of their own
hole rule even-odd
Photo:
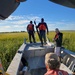
<svg viewBox="0 0 75 75">
<path fill-rule="evenodd" d="M 58 28 L 55 29 L 55 32 L 56 32 L 56 35 L 55 35 L 55 37 L 54 37 L 54 41 L 55 41 L 55 45 L 56 45 L 56 46 L 55 46 L 54 52 L 55 52 L 55 53 L 59 56 L 59 58 L 60 58 L 60 54 L 61 54 L 60 49 L 61 49 L 61 46 L 62 46 L 63 33 L 61 33 Z"/>
</svg>

